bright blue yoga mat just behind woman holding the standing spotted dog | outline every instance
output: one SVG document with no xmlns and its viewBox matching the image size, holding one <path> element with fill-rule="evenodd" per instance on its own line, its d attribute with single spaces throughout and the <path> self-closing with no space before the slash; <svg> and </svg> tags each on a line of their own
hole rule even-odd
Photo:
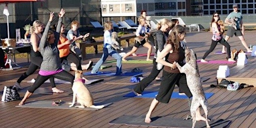
<svg viewBox="0 0 256 128">
<path fill-rule="evenodd" d="M 204 92 L 206 99 L 208 99 L 210 96 L 212 96 L 214 93 L 211 92 Z M 139 97 L 139 98 L 155 98 L 156 95 L 158 94 L 157 91 L 143 91 L 141 96 L 136 96 L 133 92 L 129 92 L 125 95 L 124 97 Z M 178 92 L 172 92 L 171 98 L 182 98 L 186 99 L 186 95 L 179 95 Z"/>
</svg>

